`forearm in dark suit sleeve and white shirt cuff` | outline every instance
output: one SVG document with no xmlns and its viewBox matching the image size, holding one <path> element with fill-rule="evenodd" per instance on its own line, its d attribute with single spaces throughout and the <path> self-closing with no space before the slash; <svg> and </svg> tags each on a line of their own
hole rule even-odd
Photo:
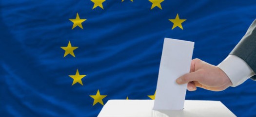
<svg viewBox="0 0 256 117">
<path fill-rule="evenodd" d="M 232 86 L 242 84 L 256 73 L 256 20 L 251 24 L 240 42 L 218 67 L 232 82 Z"/>
</svg>

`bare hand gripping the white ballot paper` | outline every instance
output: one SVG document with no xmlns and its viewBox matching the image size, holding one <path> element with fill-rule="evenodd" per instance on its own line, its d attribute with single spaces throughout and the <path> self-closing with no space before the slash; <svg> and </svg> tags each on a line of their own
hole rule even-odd
<svg viewBox="0 0 256 117">
<path fill-rule="evenodd" d="M 229 77 L 220 68 L 200 59 L 191 61 L 190 73 L 180 76 L 177 84 L 188 84 L 189 91 L 201 87 L 211 91 L 222 91 L 232 85 Z"/>
</svg>

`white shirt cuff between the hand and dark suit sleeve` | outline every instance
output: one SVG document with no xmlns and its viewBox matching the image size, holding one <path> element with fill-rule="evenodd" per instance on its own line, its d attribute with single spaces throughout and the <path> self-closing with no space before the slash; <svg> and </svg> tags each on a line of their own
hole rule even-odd
<svg viewBox="0 0 256 117">
<path fill-rule="evenodd" d="M 252 68 L 236 55 L 228 55 L 217 67 L 227 74 L 233 84 L 232 87 L 242 84 L 255 75 Z"/>
</svg>

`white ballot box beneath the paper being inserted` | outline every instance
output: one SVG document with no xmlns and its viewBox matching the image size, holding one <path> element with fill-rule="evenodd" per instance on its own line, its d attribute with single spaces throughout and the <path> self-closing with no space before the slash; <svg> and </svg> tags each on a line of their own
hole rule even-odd
<svg viewBox="0 0 256 117">
<path fill-rule="evenodd" d="M 236 117 L 220 101 L 185 100 L 183 110 L 153 110 L 154 100 L 108 100 L 98 117 Z"/>
</svg>

